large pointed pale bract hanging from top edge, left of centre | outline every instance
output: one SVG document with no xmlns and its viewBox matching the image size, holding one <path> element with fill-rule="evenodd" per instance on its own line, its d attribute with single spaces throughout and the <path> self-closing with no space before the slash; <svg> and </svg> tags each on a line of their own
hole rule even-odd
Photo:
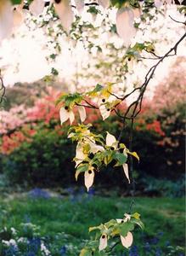
<svg viewBox="0 0 186 256">
<path fill-rule="evenodd" d="M 74 20 L 74 13 L 70 6 L 70 0 L 54 0 L 54 8 L 65 31 L 70 31 L 70 26 Z"/>
</svg>

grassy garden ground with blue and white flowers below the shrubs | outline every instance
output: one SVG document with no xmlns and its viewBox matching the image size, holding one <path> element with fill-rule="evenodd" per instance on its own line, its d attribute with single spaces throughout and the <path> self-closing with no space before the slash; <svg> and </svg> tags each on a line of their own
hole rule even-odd
<svg viewBox="0 0 186 256">
<path fill-rule="evenodd" d="M 19 236 L 44 237 L 48 247 L 55 247 L 52 255 L 78 255 L 84 240 L 93 236 L 88 235 L 88 227 L 104 223 L 110 218 L 122 218 L 129 211 L 133 200 L 132 212 L 139 212 L 145 225 L 144 233 L 141 230 L 134 232 L 134 245 L 141 247 L 139 251 L 145 249 L 145 253 L 129 255 L 184 255 L 178 248 L 184 247 L 185 241 L 184 199 L 101 197 L 82 192 L 51 197 L 44 190 L 41 191 L 0 200 L 1 240 L 11 238 L 3 228 L 6 226 L 10 230 L 13 227 L 18 230 Z M 37 195 L 38 192 L 41 196 Z M 24 235 L 25 231 L 21 227 L 26 223 L 36 224 L 37 234 Z M 155 253 L 157 248 L 164 253 Z M 167 248 L 169 253 L 165 253 Z M 121 254 L 119 248 L 110 255 L 128 254 Z"/>
</svg>

